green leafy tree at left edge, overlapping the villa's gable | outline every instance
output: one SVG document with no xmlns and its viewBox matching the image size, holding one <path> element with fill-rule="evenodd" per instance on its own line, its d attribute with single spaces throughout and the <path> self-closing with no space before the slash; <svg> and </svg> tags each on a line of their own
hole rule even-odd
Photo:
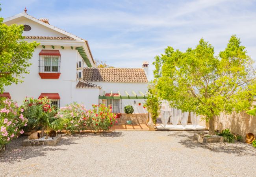
<svg viewBox="0 0 256 177">
<path fill-rule="evenodd" d="M 22 82 L 22 74 L 29 73 L 29 60 L 37 45 L 23 41 L 23 25 L 7 26 L 0 17 L 0 93 L 4 86 Z"/>
</svg>

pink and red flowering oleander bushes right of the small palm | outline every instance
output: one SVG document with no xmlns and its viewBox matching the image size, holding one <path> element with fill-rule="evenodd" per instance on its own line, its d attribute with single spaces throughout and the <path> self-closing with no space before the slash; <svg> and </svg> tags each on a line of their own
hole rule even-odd
<svg viewBox="0 0 256 177">
<path fill-rule="evenodd" d="M 56 117 L 69 119 L 65 129 L 72 134 L 86 129 L 108 131 L 117 123 L 117 115 L 112 113 L 111 106 L 106 107 L 104 104 L 93 105 L 93 109 L 86 110 L 82 104 L 71 103 L 61 107 Z"/>
</svg>

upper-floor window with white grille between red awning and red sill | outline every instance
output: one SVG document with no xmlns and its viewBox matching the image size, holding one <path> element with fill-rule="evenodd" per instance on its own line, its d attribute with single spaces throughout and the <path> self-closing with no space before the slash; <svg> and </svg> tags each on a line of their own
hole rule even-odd
<svg viewBox="0 0 256 177">
<path fill-rule="evenodd" d="M 39 72 L 60 72 L 60 56 L 40 55 Z"/>
</svg>

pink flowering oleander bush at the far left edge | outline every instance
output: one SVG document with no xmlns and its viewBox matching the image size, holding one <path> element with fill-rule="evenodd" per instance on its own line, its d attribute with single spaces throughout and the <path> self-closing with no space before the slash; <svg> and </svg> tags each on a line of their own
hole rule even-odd
<svg viewBox="0 0 256 177">
<path fill-rule="evenodd" d="M 27 125 L 28 120 L 23 116 L 23 111 L 16 102 L 0 98 L 0 145 L 18 138 L 18 133 L 24 133 L 21 128 Z"/>
</svg>

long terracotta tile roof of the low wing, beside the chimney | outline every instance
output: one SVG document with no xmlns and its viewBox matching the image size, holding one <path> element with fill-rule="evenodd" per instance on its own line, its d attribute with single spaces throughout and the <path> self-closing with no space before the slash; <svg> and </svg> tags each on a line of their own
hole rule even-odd
<svg viewBox="0 0 256 177">
<path fill-rule="evenodd" d="M 142 68 L 84 68 L 84 81 L 147 83 Z"/>
</svg>

